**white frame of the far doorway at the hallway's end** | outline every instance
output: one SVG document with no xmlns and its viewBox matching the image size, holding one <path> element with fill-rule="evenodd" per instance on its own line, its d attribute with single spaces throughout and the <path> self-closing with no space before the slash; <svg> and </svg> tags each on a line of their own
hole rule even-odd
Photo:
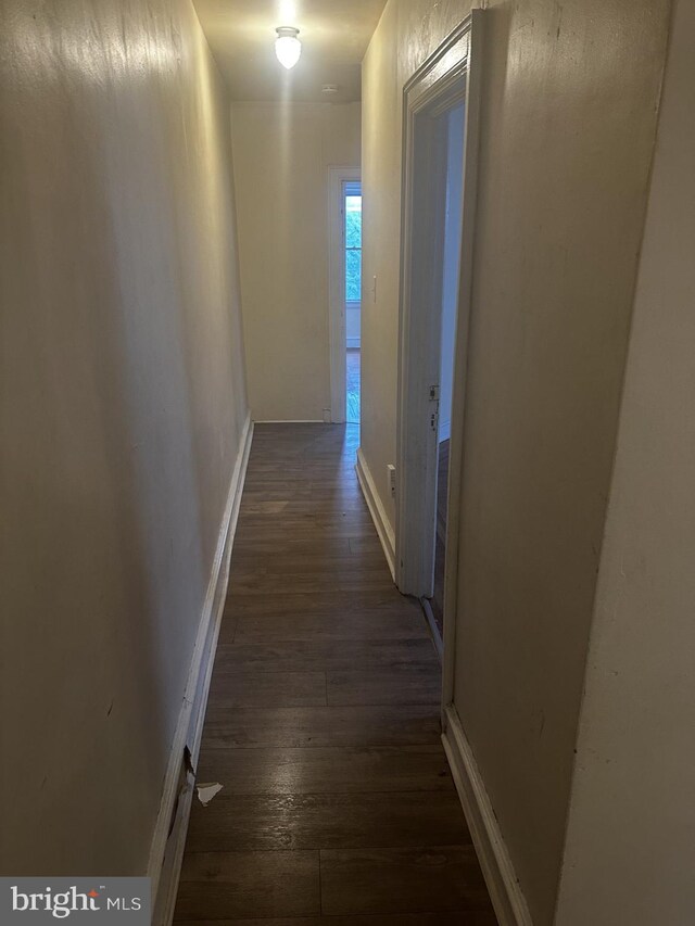
<svg viewBox="0 0 695 926">
<path fill-rule="evenodd" d="M 359 167 L 328 168 L 328 318 L 330 339 L 330 420 L 345 421 L 345 219 L 343 185 L 362 183 Z"/>
</svg>

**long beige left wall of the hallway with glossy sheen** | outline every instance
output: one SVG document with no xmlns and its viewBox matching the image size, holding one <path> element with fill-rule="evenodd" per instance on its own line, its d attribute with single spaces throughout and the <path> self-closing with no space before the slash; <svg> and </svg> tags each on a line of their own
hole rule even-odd
<svg viewBox="0 0 695 926">
<path fill-rule="evenodd" d="M 189 0 L 0 7 L 2 874 L 143 873 L 247 414 Z"/>
</svg>

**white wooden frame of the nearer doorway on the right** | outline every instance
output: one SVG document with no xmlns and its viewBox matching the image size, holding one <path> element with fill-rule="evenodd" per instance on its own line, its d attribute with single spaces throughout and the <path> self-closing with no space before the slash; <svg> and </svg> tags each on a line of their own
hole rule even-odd
<svg viewBox="0 0 695 926">
<path fill-rule="evenodd" d="M 480 69 L 483 13 L 473 10 L 418 68 L 404 87 L 403 99 L 403 175 L 401 219 L 401 301 L 399 338 L 397 396 L 397 486 L 396 486 L 396 584 L 404 594 L 422 597 L 431 585 L 434 557 L 437 444 L 432 444 L 430 416 L 433 403 L 429 385 L 434 356 L 439 361 L 439 329 L 431 322 L 432 264 L 415 252 L 417 229 L 422 216 L 432 213 L 434 202 L 439 212 L 430 223 L 443 228 L 445 200 L 440 187 L 422 183 L 417 172 L 418 161 L 438 157 L 437 138 L 427 139 L 427 124 L 418 116 L 437 115 L 440 102 L 451 105 L 455 88 L 465 79 L 465 130 L 462 207 L 462 250 L 459 265 L 458 306 L 456 313 L 455 357 L 453 372 L 452 435 L 450 443 L 448 502 L 446 523 L 446 560 L 444 578 L 444 658 L 443 705 L 453 696 L 455 617 L 457 602 L 457 571 L 459 555 L 459 502 L 464 464 L 464 418 L 466 376 L 468 368 L 468 331 L 472 297 L 472 256 L 476 227 L 476 199 L 479 149 Z M 417 129 L 417 136 L 416 136 Z M 431 129 L 432 134 L 434 130 Z M 425 148 L 419 142 L 425 139 Z M 416 148 L 416 139 L 418 147 Z M 428 147 L 429 145 L 429 147 Z M 434 145 L 434 148 L 432 148 Z M 431 162 L 428 162 L 431 163 Z M 420 182 L 414 182 L 415 176 Z M 429 206 L 429 210 L 426 208 Z M 415 221 L 417 218 L 417 225 Z M 420 238 L 422 238 L 420 233 Z M 422 242 L 419 242 L 420 245 Z M 437 236 L 432 238 L 434 259 L 443 259 Z M 440 249 L 439 252 L 437 249 Z M 420 259 L 413 259 L 417 253 Z M 431 255 L 430 255 L 431 256 Z M 435 266 L 435 265 L 434 265 Z M 428 281 L 428 275 L 430 277 Z M 441 280 L 441 272 L 438 271 Z M 428 291 L 429 284 L 429 291 Z M 422 294 L 429 293 L 430 300 Z M 437 292 L 434 292 L 437 297 Z M 437 301 L 437 300 L 435 300 Z M 441 299 L 440 299 L 441 303 Z M 441 319 L 441 308 L 438 314 Z M 428 433 L 429 432 L 429 433 Z M 433 447 L 433 459 L 432 459 Z M 425 541 L 424 541 L 425 538 Z M 431 541 L 431 543 L 430 543 Z"/>
</svg>

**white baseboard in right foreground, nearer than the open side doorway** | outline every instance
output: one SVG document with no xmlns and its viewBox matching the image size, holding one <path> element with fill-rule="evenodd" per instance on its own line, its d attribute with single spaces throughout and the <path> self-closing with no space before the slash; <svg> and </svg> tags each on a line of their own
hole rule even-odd
<svg viewBox="0 0 695 926">
<path fill-rule="evenodd" d="M 500 926 L 533 926 L 492 803 L 453 705 L 442 741 Z"/>
</svg>

